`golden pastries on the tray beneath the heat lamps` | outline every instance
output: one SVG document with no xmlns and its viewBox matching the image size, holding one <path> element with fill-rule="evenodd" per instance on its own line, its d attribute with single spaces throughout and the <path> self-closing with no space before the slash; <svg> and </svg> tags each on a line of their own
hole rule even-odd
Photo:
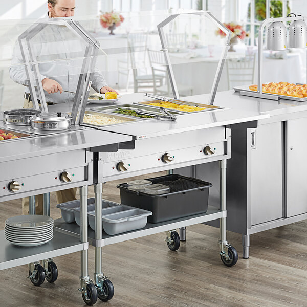
<svg viewBox="0 0 307 307">
<path fill-rule="evenodd" d="M 249 86 L 249 89 L 257 91 L 258 86 L 253 84 Z M 288 82 L 270 82 L 262 84 L 262 91 L 264 93 L 304 98 L 307 97 L 307 84 L 296 85 Z"/>
</svg>

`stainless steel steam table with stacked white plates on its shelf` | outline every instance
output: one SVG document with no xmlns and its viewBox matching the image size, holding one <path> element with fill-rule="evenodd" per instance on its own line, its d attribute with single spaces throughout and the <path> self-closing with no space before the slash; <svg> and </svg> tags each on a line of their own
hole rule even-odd
<svg viewBox="0 0 307 307">
<path fill-rule="evenodd" d="M 17 129 L 16 129 L 17 128 Z M 0 121 L 0 129 L 16 131 L 22 127 L 9 128 Z M 57 257 L 81 251 L 81 287 L 93 284 L 87 273 L 87 186 L 93 184 L 93 152 L 89 148 L 109 146 L 130 141 L 131 137 L 85 127 L 76 127 L 72 131 L 53 135 L 38 136 L 30 134 L 0 143 L 0 202 L 21 197 L 80 187 L 81 195 L 81 231 L 80 238 L 56 231 L 54 238 L 38 247 L 17 247 L 6 241 L 4 230 L 0 231 L 0 270 L 31 264 L 33 273 L 44 261 L 48 272 L 48 263 Z M 70 181 L 63 176 L 71 173 Z M 12 185 L 13 183 L 13 185 Z M 12 187 L 18 186 L 18 189 Z M 46 200 L 45 200 L 46 201 Z M 33 202 L 35 208 L 35 201 Z M 46 206 L 48 207 L 48 206 Z"/>
</svg>

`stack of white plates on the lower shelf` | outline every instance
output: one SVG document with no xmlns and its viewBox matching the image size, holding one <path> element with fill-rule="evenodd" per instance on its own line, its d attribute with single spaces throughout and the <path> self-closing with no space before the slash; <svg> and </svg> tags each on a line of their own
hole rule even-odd
<svg viewBox="0 0 307 307">
<path fill-rule="evenodd" d="M 38 246 L 53 238 L 53 218 L 44 215 L 18 215 L 5 221 L 5 238 L 18 246 Z"/>
</svg>

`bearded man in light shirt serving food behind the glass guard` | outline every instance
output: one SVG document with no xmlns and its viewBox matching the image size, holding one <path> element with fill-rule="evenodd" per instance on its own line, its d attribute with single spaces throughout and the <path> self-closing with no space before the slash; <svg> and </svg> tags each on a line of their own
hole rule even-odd
<svg viewBox="0 0 307 307">
<path fill-rule="evenodd" d="M 46 14 L 45 18 L 56 18 L 56 17 L 72 17 L 75 13 L 75 0 L 48 0 L 48 13 Z M 61 30 L 61 31 L 60 31 Z M 65 30 L 58 28 L 55 30 L 52 35 L 57 35 L 58 44 L 56 50 L 53 52 L 49 50 L 49 54 L 57 54 L 61 52 L 61 45 L 62 49 L 65 53 Z M 41 42 L 41 49 L 44 48 L 44 42 Z M 46 48 L 46 47 L 45 47 Z M 60 51 L 59 51 L 60 50 Z M 23 59 L 21 56 L 19 44 L 16 43 L 16 47 L 13 51 L 13 59 L 12 59 L 12 66 L 10 67 L 10 77 L 13 81 L 19 84 L 27 84 L 27 75 L 25 68 L 23 65 Z M 70 65 L 69 61 L 67 61 L 67 65 Z M 59 72 L 59 65 L 52 64 L 52 63 L 45 63 L 40 65 L 40 74 L 41 74 L 41 83 L 42 87 L 45 90 L 46 101 L 48 105 L 51 104 L 58 104 L 58 103 L 67 103 L 74 101 L 74 94 L 63 92 L 63 89 L 66 91 L 75 92 L 77 87 L 77 82 L 79 79 L 79 75 L 64 75 Z M 70 68 L 64 68 L 64 71 L 68 72 L 69 74 Z M 50 76 L 50 78 L 48 77 Z M 58 76 L 58 77 L 54 77 Z M 112 87 L 109 87 L 102 75 L 101 72 L 95 69 L 95 73 L 93 75 L 93 82 L 92 87 L 96 92 L 100 92 L 104 94 L 106 92 L 116 92 Z M 117 93 L 117 92 L 116 92 Z M 117 93 L 118 94 L 118 93 Z M 31 100 L 31 95 L 29 91 L 29 87 L 25 87 L 25 101 L 24 101 L 24 108 L 32 108 L 33 103 Z M 56 197 L 58 203 L 64 203 L 71 200 L 76 199 L 76 191 L 77 188 L 72 188 L 63 191 L 57 191 Z M 37 195 L 36 196 L 36 214 L 42 214 L 43 208 L 43 196 Z M 29 210 L 29 200 L 28 198 L 23 199 L 23 214 L 28 214 Z"/>
</svg>

